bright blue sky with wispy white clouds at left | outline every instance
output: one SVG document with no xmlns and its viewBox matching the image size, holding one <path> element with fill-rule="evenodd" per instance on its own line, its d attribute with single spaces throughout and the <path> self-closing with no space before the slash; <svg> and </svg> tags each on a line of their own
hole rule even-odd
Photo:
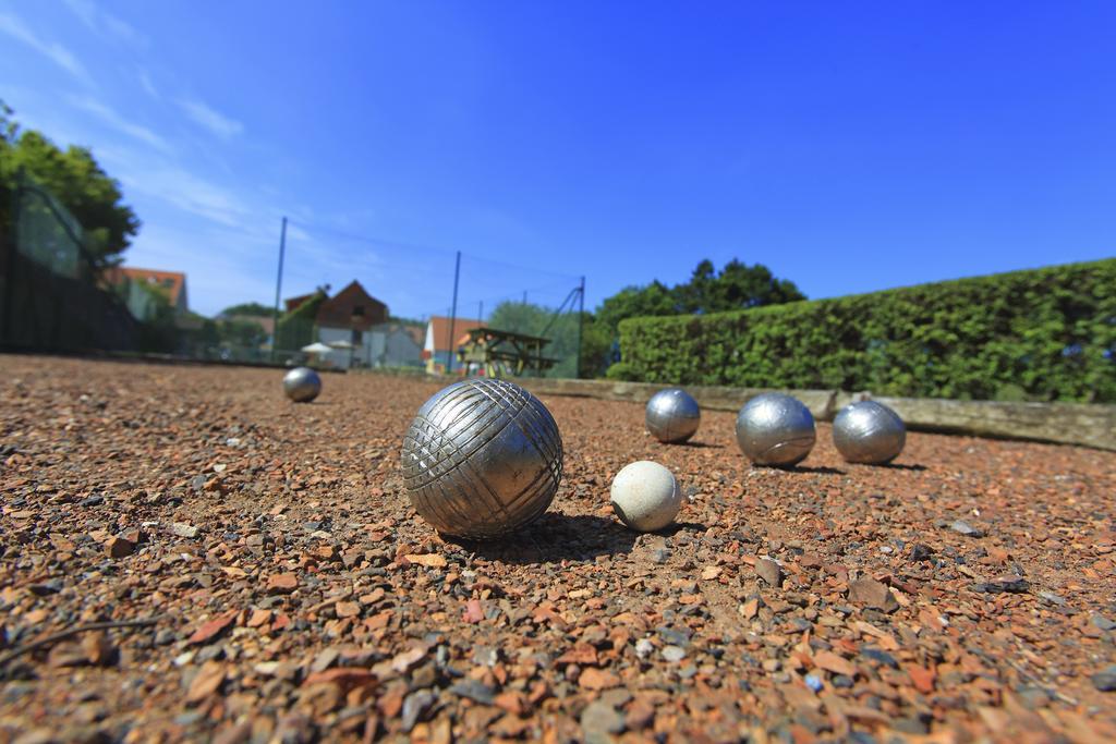
<svg viewBox="0 0 1116 744">
<path fill-rule="evenodd" d="M 93 147 L 191 303 L 398 315 L 768 264 L 812 298 L 1116 254 L 1110 2 L 0 0 L 0 98 Z M 506 264 L 527 267 L 519 270 Z"/>
</svg>

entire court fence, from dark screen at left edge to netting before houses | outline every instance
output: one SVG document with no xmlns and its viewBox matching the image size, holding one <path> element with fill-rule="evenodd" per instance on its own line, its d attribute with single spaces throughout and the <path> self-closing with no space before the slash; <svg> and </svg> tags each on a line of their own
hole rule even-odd
<svg viewBox="0 0 1116 744">
<path fill-rule="evenodd" d="M 583 277 L 285 220 L 276 254 L 259 262 L 279 263 L 275 298 L 230 297 L 205 317 L 190 311 L 182 273 L 99 264 L 77 220 L 29 178 L 0 197 L 11 205 L 0 257 L 7 348 L 413 374 L 578 374 Z"/>
</svg>

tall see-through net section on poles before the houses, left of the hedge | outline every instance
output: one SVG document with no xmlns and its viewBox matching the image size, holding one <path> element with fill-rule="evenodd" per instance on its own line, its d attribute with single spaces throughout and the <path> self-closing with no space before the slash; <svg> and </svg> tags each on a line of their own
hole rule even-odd
<svg viewBox="0 0 1116 744">
<path fill-rule="evenodd" d="M 439 375 L 578 369 L 584 278 L 291 222 L 273 357 Z"/>
</svg>

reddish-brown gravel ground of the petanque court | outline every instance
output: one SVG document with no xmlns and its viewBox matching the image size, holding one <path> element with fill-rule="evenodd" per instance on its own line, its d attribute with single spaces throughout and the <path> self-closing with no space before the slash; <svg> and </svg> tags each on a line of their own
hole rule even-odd
<svg viewBox="0 0 1116 744">
<path fill-rule="evenodd" d="M 550 512 L 448 542 L 400 474 L 436 384 L 280 377 L 0 357 L 0 741 L 1116 741 L 1114 453 L 822 424 L 760 470 L 731 414 L 548 397 Z M 662 534 L 608 506 L 635 460 Z"/>
</svg>

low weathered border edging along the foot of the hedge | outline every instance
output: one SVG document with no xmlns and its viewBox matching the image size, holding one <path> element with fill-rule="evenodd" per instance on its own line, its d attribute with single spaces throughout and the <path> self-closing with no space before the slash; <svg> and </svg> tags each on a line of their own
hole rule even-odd
<svg viewBox="0 0 1116 744">
<path fill-rule="evenodd" d="M 667 385 L 614 383 L 589 379 L 523 378 L 517 380 L 543 395 L 570 395 L 608 400 L 646 403 Z M 740 410 L 759 388 L 685 386 L 702 408 Z M 818 421 L 833 421 L 853 400 L 873 398 L 891 406 L 907 427 L 920 432 L 969 434 L 1009 439 L 1078 444 L 1116 451 L 1116 406 L 1072 403 L 998 403 L 942 398 L 875 397 L 844 390 L 787 390 L 801 400 Z"/>
</svg>

